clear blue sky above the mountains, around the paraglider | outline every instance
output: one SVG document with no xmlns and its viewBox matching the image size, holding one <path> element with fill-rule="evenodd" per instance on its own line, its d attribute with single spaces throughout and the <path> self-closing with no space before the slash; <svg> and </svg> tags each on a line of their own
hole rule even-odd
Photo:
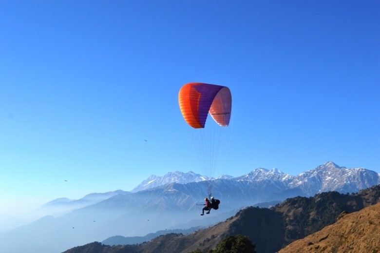
<svg viewBox="0 0 380 253">
<path fill-rule="evenodd" d="M 380 172 L 379 13 L 375 0 L 0 1 L 0 215 L 202 174 L 177 102 L 188 82 L 232 93 L 216 176 L 330 160 Z"/>
</svg>

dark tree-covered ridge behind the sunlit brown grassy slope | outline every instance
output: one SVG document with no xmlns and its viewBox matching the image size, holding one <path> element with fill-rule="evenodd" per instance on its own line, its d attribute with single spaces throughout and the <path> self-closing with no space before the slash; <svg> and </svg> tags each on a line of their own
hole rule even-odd
<svg viewBox="0 0 380 253">
<path fill-rule="evenodd" d="M 273 208 L 248 207 L 224 222 L 187 235 L 161 235 L 139 245 L 88 244 L 65 253 L 91 252 L 88 249 L 94 245 L 102 247 L 98 252 L 104 253 L 189 253 L 197 249 L 208 252 L 226 236 L 237 234 L 246 235 L 256 245 L 257 252 L 273 253 L 335 223 L 342 213 L 355 213 L 377 203 L 380 203 L 379 185 L 355 194 L 328 192 L 313 197 L 295 197 Z M 374 224 L 379 226 L 380 223 Z M 315 244 L 315 240 L 311 242 Z"/>
</svg>

